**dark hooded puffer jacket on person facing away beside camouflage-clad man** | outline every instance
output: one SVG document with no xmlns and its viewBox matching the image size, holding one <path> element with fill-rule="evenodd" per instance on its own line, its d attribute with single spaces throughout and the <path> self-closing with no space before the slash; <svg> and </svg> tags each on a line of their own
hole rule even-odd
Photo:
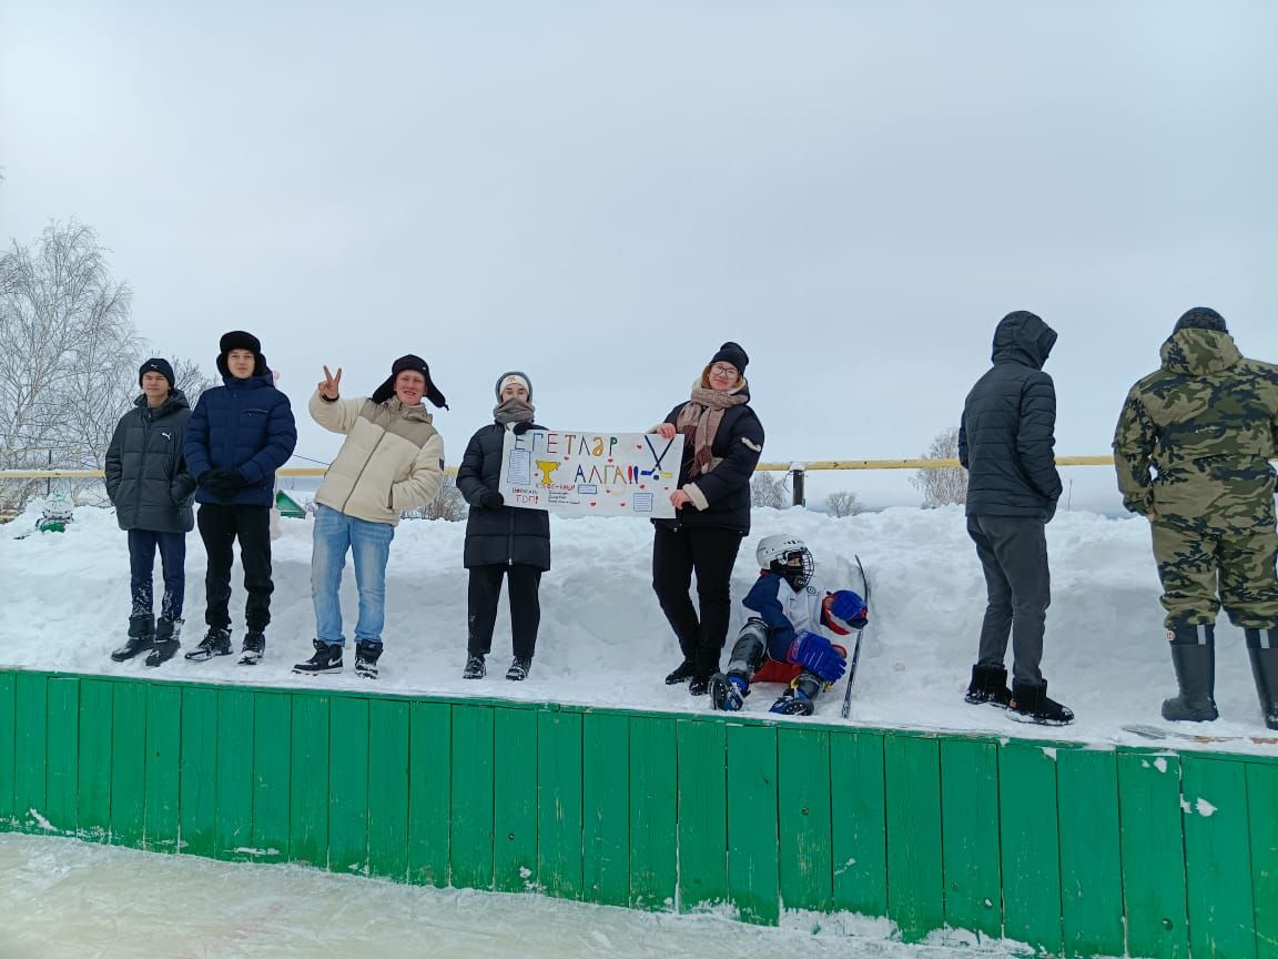
<svg viewBox="0 0 1278 959">
<path fill-rule="evenodd" d="M 1043 372 L 1054 344 L 1056 331 L 1024 311 L 994 330 L 994 366 L 967 394 L 958 427 L 969 517 L 1056 513 L 1056 387 Z"/>
</svg>

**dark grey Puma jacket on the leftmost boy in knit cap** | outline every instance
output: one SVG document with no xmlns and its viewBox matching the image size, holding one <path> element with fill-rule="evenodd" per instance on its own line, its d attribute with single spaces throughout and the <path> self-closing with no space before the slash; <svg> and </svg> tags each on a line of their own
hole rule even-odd
<svg viewBox="0 0 1278 959">
<path fill-rule="evenodd" d="M 138 396 L 120 417 L 106 448 L 106 495 L 120 529 L 185 533 L 196 524 L 190 510 L 196 478 L 181 455 L 189 419 L 181 390 L 155 409 Z"/>
</svg>

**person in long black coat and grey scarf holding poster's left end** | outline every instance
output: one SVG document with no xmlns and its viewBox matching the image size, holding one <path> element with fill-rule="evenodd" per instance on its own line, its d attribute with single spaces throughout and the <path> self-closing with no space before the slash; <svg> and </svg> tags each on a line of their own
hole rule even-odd
<svg viewBox="0 0 1278 959">
<path fill-rule="evenodd" d="M 533 422 L 533 386 L 525 373 L 511 371 L 497 378 L 493 423 L 466 444 L 458 467 L 458 488 L 470 504 L 463 563 L 470 570 L 466 592 L 466 665 L 463 679 L 482 679 L 484 657 L 492 651 L 501 578 L 510 589 L 510 629 L 515 659 L 506 679 L 528 678 L 542 619 L 538 600 L 542 573 L 551 568 L 551 520 L 541 509 L 505 505 L 497 486 L 506 432 L 542 430 Z"/>
</svg>

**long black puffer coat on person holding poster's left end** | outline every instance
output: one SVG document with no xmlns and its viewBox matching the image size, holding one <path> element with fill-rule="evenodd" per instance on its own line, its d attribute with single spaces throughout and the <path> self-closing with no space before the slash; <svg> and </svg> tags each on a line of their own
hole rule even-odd
<svg viewBox="0 0 1278 959">
<path fill-rule="evenodd" d="M 497 490 L 505 436 L 506 427 L 501 423 L 483 427 L 470 437 L 458 467 L 458 488 L 470 504 L 463 565 L 470 569 L 521 563 L 544 572 L 551 568 L 550 514 L 543 509 L 478 505 L 481 494 Z"/>
</svg>

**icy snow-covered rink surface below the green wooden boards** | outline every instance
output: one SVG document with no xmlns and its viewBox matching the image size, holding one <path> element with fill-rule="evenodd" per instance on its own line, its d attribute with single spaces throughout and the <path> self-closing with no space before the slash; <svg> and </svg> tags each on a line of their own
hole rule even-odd
<svg viewBox="0 0 1278 959">
<path fill-rule="evenodd" d="M 989 959 L 1015 945 L 974 949 L 966 933 L 938 932 L 907 946 L 886 939 L 886 919 L 847 914 L 787 913 L 760 928 L 726 912 L 653 914 L 20 835 L 0 835 L 0 917 L 4 959 Z"/>
</svg>

